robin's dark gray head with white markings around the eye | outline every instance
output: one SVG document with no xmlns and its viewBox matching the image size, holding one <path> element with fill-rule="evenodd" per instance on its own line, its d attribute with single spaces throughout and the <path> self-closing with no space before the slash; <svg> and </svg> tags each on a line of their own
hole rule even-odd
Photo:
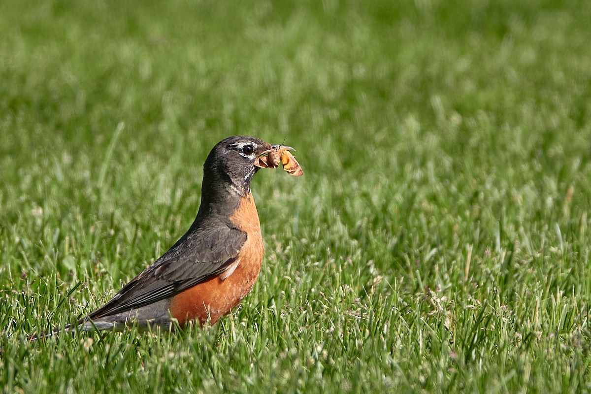
<svg viewBox="0 0 591 394">
<path fill-rule="evenodd" d="M 218 142 L 203 165 L 202 202 L 208 197 L 217 200 L 248 194 L 252 177 L 259 169 L 256 157 L 278 146 L 245 135 Z"/>
</svg>

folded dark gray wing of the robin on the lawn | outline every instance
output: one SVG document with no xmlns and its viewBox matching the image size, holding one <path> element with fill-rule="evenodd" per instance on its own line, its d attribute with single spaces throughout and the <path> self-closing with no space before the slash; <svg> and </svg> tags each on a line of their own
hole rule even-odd
<svg viewBox="0 0 591 394">
<path fill-rule="evenodd" d="M 189 230 L 88 318 L 114 315 L 173 297 L 225 271 L 238 258 L 246 233 L 228 226 L 212 227 Z"/>
</svg>

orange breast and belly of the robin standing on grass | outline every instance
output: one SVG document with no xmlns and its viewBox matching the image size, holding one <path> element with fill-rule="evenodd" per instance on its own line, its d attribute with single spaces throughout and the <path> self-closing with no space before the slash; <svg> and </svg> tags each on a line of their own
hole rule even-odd
<svg viewBox="0 0 591 394">
<path fill-rule="evenodd" d="M 183 326 L 189 320 L 200 324 L 215 324 L 228 314 L 248 294 L 261 272 L 265 252 L 261 224 L 252 195 L 242 198 L 235 213 L 230 217 L 232 223 L 245 231 L 248 236 L 238 255 L 236 269 L 225 279 L 220 276 L 209 279 L 176 295 L 170 304 L 172 317 Z"/>
</svg>

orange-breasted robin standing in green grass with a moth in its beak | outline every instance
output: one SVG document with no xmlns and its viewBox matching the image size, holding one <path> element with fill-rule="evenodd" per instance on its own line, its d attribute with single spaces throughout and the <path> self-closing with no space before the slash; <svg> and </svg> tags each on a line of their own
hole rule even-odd
<svg viewBox="0 0 591 394">
<path fill-rule="evenodd" d="M 189 321 L 213 325 L 229 314 L 255 285 L 264 254 L 252 177 L 259 168 L 278 166 L 269 154 L 293 150 L 250 136 L 214 146 L 203 165 L 201 205 L 189 231 L 82 318 L 78 329 L 121 330 L 132 322 L 140 328 L 168 327 L 173 320 L 181 327 Z"/>
</svg>

